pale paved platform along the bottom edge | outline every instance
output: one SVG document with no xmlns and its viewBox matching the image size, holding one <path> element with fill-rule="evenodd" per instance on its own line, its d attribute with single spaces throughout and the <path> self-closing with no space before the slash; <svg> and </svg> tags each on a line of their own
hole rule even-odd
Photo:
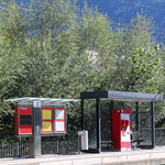
<svg viewBox="0 0 165 165">
<path fill-rule="evenodd" d="M 0 158 L 0 165 L 165 165 L 165 147 L 100 154 L 42 155 L 35 158 Z"/>
</svg>

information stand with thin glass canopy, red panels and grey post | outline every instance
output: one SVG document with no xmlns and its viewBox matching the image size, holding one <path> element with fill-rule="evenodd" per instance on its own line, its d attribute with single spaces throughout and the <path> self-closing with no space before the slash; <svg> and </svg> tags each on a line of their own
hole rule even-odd
<svg viewBox="0 0 165 165">
<path fill-rule="evenodd" d="M 29 138 L 30 156 L 41 155 L 41 138 L 67 133 L 67 105 L 78 99 L 16 98 L 15 135 Z"/>
</svg>

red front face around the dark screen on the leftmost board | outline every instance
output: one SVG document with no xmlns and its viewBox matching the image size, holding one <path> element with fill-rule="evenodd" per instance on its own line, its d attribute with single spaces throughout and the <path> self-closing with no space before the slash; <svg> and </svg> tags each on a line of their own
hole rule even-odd
<svg viewBox="0 0 165 165">
<path fill-rule="evenodd" d="M 32 134 L 32 107 L 20 107 L 19 109 L 19 116 L 20 116 L 20 128 L 19 133 L 21 134 Z M 21 116 L 31 116 L 31 124 L 29 125 L 21 125 Z"/>
</svg>

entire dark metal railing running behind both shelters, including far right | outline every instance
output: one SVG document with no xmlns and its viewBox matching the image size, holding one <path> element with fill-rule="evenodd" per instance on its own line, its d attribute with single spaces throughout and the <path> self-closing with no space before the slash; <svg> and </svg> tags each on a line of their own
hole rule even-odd
<svg viewBox="0 0 165 165">
<path fill-rule="evenodd" d="M 147 135 L 146 135 L 147 134 Z M 150 139 L 148 128 L 141 130 L 141 135 Z M 165 128 L 156 128 L 156 146 L 165 145 Z M 78 152 L 78 136 L 44 136 L 42 154 L 74 154 Z M 29 156 L 29 139 L 3 135 L 0 136 L 0 157 Z"/>
</svg>

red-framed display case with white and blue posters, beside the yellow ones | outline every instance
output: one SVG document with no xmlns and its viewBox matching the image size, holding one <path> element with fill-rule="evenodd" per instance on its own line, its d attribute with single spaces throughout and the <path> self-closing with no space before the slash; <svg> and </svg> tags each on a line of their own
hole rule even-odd
<svg viewBox="0 0 165 165">
<path fill-rule="evenodd" d="M 55 133 L 66 132 L 66 109 L 55 109 Z"/>
</svg>

